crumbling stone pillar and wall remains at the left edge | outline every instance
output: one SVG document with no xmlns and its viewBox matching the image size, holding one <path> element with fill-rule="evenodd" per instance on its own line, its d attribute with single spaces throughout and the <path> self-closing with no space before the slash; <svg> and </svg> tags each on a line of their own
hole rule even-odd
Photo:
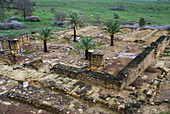
<svg viewBox="0 0 170 114">
<path fill-rule="evenodd" d="M 17 62 L 16 55 L 21 52 L 22 45 L 31 44 L 30 34 L 23 34 L 18 37 L 11 37 L 0 40 L 0 60 L 8 64 L 15 64 Z"/>
</svg>

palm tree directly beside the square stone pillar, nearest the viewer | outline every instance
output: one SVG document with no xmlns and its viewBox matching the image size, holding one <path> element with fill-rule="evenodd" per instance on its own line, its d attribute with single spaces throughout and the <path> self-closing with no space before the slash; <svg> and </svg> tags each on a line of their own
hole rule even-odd
<svg viewBox="0 0 170 114">
<path fill-rule="evenodd" d="M 85 59 L 88 60 L 88 50 L 95 47 L 96 40 L 93 40 L 91 36 L 82 36 L 82 38 L 77 43 L 77 48 L 83 49 L 85 51 Z"/>
</svg>

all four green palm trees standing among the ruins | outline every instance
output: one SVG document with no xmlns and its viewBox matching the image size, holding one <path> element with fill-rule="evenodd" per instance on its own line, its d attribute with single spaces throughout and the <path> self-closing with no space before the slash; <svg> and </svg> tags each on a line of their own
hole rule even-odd
<svg viewBox="0 0 170 114">
<path fill-rule="evenodd" d="M 74 42 L 77 42 L 76 40 L 76 27 L 78 25 L 85 25 L 84 22 L 81 19 L 81 16 L 77 12 L 72 12 L 69 16 L 68 23 L 66 26 L 72 25 L 74 30 Z M 110 46 L 114 46 L 114 35 L 118 32 L 123 33 L 120 29 L 122 29 L 118 23 L 118 21 L 108 21 L 106 23 L 106 27 L 103 29 L 104 32 L 109 33 L 111 37 L 111 43 Z M 37 36 L 38 39 L 44 41 L 44 52 L 47 52 L 47 41 L 51 39 L 56 39 L 52 37 L 52 31 L 50 28 L 41 28 L 39 32 L 39 36 Z M 94 38 L 91 36 L 82 36 L 82 38 L 77 43 L 77 47 L 80 49 L 83 49 L 85 51 L 85 59 L 88 59 L 88 50 L 93 48 L 95 45 L 96 40 L 93 40 Z"/>
</svg>

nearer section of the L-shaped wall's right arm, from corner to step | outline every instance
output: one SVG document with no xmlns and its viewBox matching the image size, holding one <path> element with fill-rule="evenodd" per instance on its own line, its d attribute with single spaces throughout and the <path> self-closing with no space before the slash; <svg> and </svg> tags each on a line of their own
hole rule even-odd
<svg viewBox="0 0 170 114">
<path fill-rule="evenodd" d="M 119 81 L 122 84 L 125 83 L 126 85 L 129 85 L 135 81 L 138 75 L 150 66 L 154 60 L 154 48 L 148 47 L 124 67 L 116 77 L 119 78 Z"/>
</svg>

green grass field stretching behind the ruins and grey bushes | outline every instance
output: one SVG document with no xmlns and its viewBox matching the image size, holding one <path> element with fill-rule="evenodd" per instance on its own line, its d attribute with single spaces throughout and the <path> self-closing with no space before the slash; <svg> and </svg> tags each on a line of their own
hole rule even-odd
<svg viewBox="0 0 170 114">
<path fill-rule="evenodd" d="M 39 16 L 42 21 L 37 23 L 24 22 L 26 27 L 19 31 L 1 31 L 1 33 L 15 36 L 20 33 L 37 30 L 40 26 L 51 25 L 54 19 L 54 13 L 51 8 L 54 7 L 56 12 L 64 12 L 69 14 L 72 10 L 79 10 L 87 17 L 87 22 L 94 18 L 96 13 L 100 14 L 101 21 L 113 19 L 113 14 L 119 15 L 122 20 L 138 20 L 144 17 L 146 20 L 152 20 L 157 24 L 170 24 L 170 2 L 156 2 L 156 1 L 127 1 L 127 0 L 33 0 L 36 1 L 37 6 L 33 15 Z M 125 11 L 114 11 L 109 8 L 123 4 Z M 12 11 L 8 13 L 8 17 L 13 16 Z M 23 19 L 23 18 L 22 18 Z M 23 21 L 21 21 L 23 22 Z M 54 30 L 58 30 L 53 27 Z"/>
</svg>

